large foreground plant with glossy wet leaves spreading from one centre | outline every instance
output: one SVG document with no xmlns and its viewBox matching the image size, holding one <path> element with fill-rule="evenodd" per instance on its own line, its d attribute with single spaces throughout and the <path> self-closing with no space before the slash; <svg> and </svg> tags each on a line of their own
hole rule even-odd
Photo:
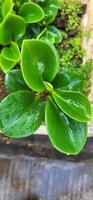
<svg viewBox="0 0 93 200">
<path fill-rule="evenodd" d="M 54 146 L 61 152 L 77 154 L 85 144 L 86 122 L 92 119 L 92 109 L 86 96 L 68 90 L 63 76 L 59 80 L 58 67 L 59 56 L 51 43 L 36 39 L 23 41 L 22 75 L 18 70 L 6 75 L 6 85 L 13 93 L 0 103 L 0 129 L 10 137 L 26 137 L 45 118 Z M 59 89 L 62 81 L 63 88 Z"/>
</svg>

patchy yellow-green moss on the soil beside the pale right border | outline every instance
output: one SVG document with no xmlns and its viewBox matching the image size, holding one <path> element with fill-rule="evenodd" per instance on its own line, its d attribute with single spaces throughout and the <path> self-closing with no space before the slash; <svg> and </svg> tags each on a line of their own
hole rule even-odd
<svg viewBox="0 0 93 200">
<path fill-rule="evenodd" d="M 86 6 L 85 6 L 86 7 Z M 81 39 L 90 37 L 89 32 L 81 32 L 83 10 L 81 1 L 63 0 L 61 3 L 61 20 L 66 24 L 62 31 L 63 41 L 57 46 L 60 54 L 60 67 L 64 73 L 71 74 L 81 80 L 81 91 L 88 95 L 91 88 L 92 61 L 83 63 L 85 51 Z"/>
</svg>

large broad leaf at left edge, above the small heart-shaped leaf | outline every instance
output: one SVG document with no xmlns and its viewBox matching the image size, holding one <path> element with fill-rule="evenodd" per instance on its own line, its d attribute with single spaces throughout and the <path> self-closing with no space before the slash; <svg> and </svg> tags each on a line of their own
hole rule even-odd
<svg viewBox="0 0 93 200">
<path fill-rule="evenodd" d="M 26 31 L 25 20 L 9 13 L 0 24 L 0 44 L 7 45 L 11 40 L 21 38 Z"/>
</svg>

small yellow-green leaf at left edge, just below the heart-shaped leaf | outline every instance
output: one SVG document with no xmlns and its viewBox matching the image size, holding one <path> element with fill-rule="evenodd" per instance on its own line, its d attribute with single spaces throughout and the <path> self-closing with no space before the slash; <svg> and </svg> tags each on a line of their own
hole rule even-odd
<svg viewBox="0 0 93 200">
<path fill-rule="evenodd" d="M 7 73 L 10 69 L 12 69 L 16 65 L 15 61 L 5 59 L 2 54 L 0 54 L 0 67 Z"/>
</svg>

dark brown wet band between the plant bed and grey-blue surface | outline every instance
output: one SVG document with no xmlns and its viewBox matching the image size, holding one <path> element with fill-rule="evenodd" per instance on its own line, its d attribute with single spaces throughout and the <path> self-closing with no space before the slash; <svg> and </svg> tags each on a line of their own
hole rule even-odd
<svg viewBox="0 0 93 200">
<path fill-rule="evenodd" d="M 53 148 L 47 135 L 32 135 L 24 139 L 11 139 L 0 136 L 0 153 L 5 156 L 46 157 L 71 162 L 93 160 L 93 138 L 89 138 L 82 152 L 76 156 L 67 156 Z"/>
</svg>

